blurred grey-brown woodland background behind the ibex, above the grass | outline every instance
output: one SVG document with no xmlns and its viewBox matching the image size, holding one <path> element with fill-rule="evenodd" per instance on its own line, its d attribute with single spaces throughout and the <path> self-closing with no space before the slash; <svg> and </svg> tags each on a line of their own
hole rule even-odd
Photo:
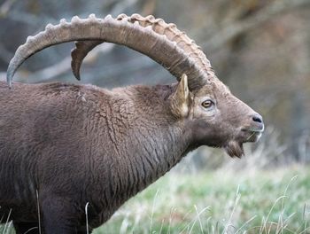
<svg viewBox="0 0 310 234">
<path fill-rule="evenodd" d="M 174 22 L 202 47 L 236 97 L 263 115 L 266 133 L 236 167 L 310 162 L 310 0 L 0 0 L 0 79 L 19 44 L 46 24 L 122 12 Z M 73 47 L 66 43 L 35 54 L 15 81 L 77 82 L 70 69 Z M 174 81 L 150 58 L 108 43 L 81 68 L 82 83 L 109 89 Z M 198 168 L 231 163 L 220 150 L 203 147 L 194 154 L 190 159 Z"/>
</svg>

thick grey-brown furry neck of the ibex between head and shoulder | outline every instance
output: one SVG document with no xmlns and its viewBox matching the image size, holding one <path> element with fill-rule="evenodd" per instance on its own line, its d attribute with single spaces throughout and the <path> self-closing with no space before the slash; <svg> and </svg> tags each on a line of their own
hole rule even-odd
<svg viewBox="0 0 310 234">
<path fill-rule="evenodd" d="M 126 163 L 120 167 L 118 193 L 125 200 L 166 174 L 191 150 L 191 131 L 170 111 L 167 97 L 173 87 L 139 87 L 135 91 L 134 101 L 143 108 L 136 109 L 135 127 L 122 142 L 127 150 L 121 160 L 125 158 Z"/>
</svg>

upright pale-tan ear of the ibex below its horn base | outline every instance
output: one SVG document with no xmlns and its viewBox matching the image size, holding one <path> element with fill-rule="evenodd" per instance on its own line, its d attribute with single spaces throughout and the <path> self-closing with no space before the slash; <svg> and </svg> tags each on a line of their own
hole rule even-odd
<svg viewBox="0 0 310 234">
<path fill-rule="evenodd" d="M 174 94 L 170 98 L 171 109 L 177 117 L 186 117 L 190 113 L 190 90 L 187 75 L 182 74 Z"/>
</svg>

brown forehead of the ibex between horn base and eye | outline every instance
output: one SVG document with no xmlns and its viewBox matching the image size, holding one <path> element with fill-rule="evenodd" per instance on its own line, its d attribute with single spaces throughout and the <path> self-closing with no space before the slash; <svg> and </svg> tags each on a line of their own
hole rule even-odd
<svg viewBox="0 0 310 234">
<path fill-rule="evenodd" d="M 208 82 L 205 86 L 195 92 L 196 97 L 212 96 L 215 98 L 219 96 L 227 96 L 229 94 L 231 94 L 229 87 L 217 78 L 214 78 L 212 81 Z"/>
</svg>

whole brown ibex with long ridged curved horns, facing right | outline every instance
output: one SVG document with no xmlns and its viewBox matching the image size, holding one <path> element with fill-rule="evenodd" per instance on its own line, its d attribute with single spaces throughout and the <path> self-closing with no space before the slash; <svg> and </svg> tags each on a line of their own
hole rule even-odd
<svg viewBox="0 0 310 234">
<path fill-rule="evenodd" d="M 78 42 L 77 78 L 87 53 L 108 42 L 140 51 L 178 82 L 114 90 L 12 83 L 35 52 L 71 41 Z M 243 144 L 264 129 L 260 114 L 230 93 L 196 43 L 153 16 L 49 24 L 16 51 L 7 82 L 0 82 L 0 217 L 17 233 L 91 231 L 188 152 L 208 145 L 241 157 Z"/>
</svg>

